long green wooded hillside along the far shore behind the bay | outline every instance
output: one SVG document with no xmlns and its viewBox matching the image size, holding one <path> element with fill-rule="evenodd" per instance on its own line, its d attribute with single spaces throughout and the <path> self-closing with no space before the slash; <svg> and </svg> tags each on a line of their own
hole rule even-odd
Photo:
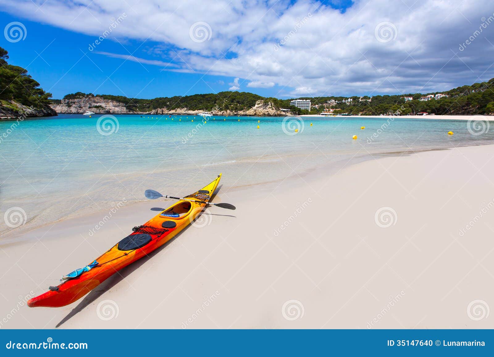
<svg viewBox="0 0 494 357">
<path fill-rule="evenodd" d="M 248 92 L 219 92 L 217 94 L 194 94 L 188 96 L 159 97 L 154 99 L 127 98 L 120 95 L 97 94 L 77 92 L 67 94 L 64 99 L 78 99 L 88 96 L 101 97 L 108 100 L 124 103 L 125 107 L 134 112 L 150 112 L 154 109 L 166 108 L 176 110 L 186 108 L 189 110 L 220 110 L 220 111 L 240 111 L 248 110 L 255 105 L 258 100 L 273 102 L 278 109 L 289 108 L 297 115 L 318 114 L 325 109 L 335 109 L 335 114 L 353 115 L 381 115 L 381 114 L 414 114 L 427 112 L 430 114 L 456 114 L 474 115 L 494 113 L 494 79 L 487 82 L 464 85 L 448 91 L 442 92 L 449 97 L 432 99 L 429 101 L 419 101 L 419 98 L 427 94 L 435 93 L 410 93 L 402 95 L 375 95 L 372 98 L 360 97 L 300 97 L 299 99 L 310 99 L 312 101 L 311 111 L 302 110 L 290 106 L 292 99 L 278 99 L 272 97 L 261 97 Z M 413 100 L 405 102 L 404 96 L 411 96 Z M 351 102 L 347 100 L 352 98 Z M 345 102 L 343 102 L 345 100 Z M 334 102 L 331 102 L 334 101 Z M 329 103 L 331 102 L 331 103 Z M 99 108 L 95 106 L 93 108 Z"/>
</svg>

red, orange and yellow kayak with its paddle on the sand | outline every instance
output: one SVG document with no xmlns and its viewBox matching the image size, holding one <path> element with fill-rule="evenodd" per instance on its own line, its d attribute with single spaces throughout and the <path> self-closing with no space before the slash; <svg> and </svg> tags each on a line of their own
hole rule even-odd
<svg viewBox="0 0 494 357">
<path fill-rule="evenodd" d="M 165 244 L 192 223 L 206 205 L 235 209 L 228 203 L 211 203 L 209 200 L 218 187 L 221 174 L 203 189 L 184 198 L 162 196 L 153 190 L 146 190 L 146 197 L 174 198 L 172 204 L 141 226 L 132 228 L 132 233 L 103 253 L 84 268 L 77 269 L 60 279 L 58 286 L 28 301 L 29 307 L 61 307 L 69 305 L 86 295 L 107 278 L 127 265 L 149 254 Z"/>
</svg>

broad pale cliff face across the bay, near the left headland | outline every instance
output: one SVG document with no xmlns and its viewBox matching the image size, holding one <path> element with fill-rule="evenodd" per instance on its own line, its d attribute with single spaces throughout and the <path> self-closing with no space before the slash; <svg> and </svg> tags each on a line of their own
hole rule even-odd
<svg viewBox="0 0 494 357">
<path fill-rule="evenodd" d="M 124 103 L 101 97 L 62 99 L 62 103 L 52 104 L 51 107 L 57 113 L 67 114 L 84 114 L 87 111 L 97 114 L 136 114 L 136 112 L 131 112 L 125 108 Z"/>
</svg>

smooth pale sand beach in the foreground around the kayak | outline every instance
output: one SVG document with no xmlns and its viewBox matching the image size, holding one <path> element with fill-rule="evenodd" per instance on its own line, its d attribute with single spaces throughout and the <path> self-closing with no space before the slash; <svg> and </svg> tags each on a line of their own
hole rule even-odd
<svg viewBox="0 0 494 357">
<path fill-rule="evenodd" d="M 493 158 L 397 153 L 223 186 L 213 201 L 237 210 L 207 208 L 204 227 L 63 308 L 23 300 L 171 201 L 121 208 L 92 237 L 107 211 L 45 226 L 1 246 L 1 328 L 494 328 Z"/>
</svg>

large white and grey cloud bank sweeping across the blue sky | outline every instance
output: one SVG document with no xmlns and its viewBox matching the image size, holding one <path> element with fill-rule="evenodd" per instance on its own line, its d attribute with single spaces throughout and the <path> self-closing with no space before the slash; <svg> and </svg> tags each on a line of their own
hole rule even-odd
<svg viewBox="0 0 494 357">
<path fill-rule="evenodd" d="M 95 39 L 125 13 L 111 38 L 134 40 L 137 62 L 163 66 L 153 62 L 163 54 L 174 71 L 277 83 L 293 95 L 426 93 L 494 77 L 494 24 L 459 49 L 493 16 L 492 0 L 356 0 L 344 13 L 309 0 L 2 0 L 0 8 Z M 210 38 L 191 39 L 198 22 Z"/>
</svg>

